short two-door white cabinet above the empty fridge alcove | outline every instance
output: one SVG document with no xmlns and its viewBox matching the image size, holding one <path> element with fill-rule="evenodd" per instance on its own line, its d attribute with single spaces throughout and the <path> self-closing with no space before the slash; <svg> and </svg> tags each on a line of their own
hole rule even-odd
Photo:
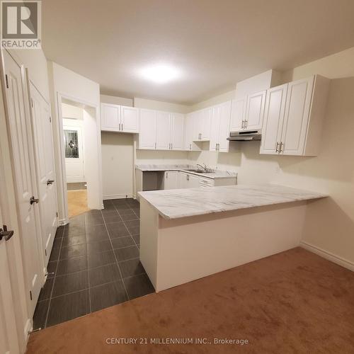
<svg viewBox="0 0 354 354">
<path fill-rule="evenodd" d="M 139 109 L 101 103 L 101 130 L 138 133 Z"/>
</svg>

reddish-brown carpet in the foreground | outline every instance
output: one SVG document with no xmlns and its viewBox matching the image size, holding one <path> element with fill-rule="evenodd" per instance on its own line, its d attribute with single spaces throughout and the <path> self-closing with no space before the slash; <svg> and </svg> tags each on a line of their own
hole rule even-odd
<svg viewBox="0 0 354 354">
<path fill-rule="evenodd" d="M 292 249 L 33 333 L 30 353 L 354 353 L 354 273 Z"/>
</svg>

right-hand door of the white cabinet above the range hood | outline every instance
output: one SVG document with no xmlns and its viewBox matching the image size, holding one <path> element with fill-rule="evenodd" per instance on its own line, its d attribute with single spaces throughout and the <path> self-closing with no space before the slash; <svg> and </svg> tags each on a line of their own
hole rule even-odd
<svg viewBox="0 0 354 354">
<path fill-rule="evenodd" d="M 246 130 L 262 128 L 265 104 L 265 92 L 253 93 L 247 97 Z"/>
</svg>

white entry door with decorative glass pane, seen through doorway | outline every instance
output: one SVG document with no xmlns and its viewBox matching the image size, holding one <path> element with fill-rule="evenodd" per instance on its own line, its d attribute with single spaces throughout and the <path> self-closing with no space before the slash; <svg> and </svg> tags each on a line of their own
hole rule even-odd
<svg viewBox="0 0 354 354">
<path fill-rule="evenodd" d="M 77 120 L 77 122 L 81 121 Z M 64 123 L 63 130 L 67 183 L 85 182 L 82 128 Z"/>
</svg>

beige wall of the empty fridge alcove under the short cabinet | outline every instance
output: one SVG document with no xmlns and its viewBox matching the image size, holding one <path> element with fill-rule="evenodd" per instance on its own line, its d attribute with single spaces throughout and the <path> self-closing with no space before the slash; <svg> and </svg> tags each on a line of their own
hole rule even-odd
<svg viewBox="0 0 354 354">
<path fill-rule="evenodd" d="M 101 132 L 103 199 L 132 197 L 134 137 L 132 134 Z"/>
</svg>

